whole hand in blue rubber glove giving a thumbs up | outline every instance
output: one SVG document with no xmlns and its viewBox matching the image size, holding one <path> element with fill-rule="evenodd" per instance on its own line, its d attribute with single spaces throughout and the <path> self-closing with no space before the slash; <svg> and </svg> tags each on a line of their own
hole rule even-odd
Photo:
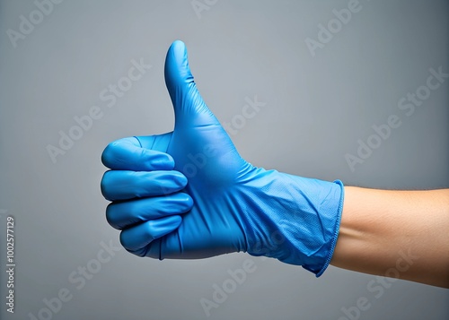
<svg viewBox="0 0 449 320">
<path fill-rule="evenodd" d="M 321 275 L 339 233 L 343 185 L 256 168 L 243 160 L 199 95 L 187 51 L 173 42 L 165 82 L 168 134 L 110 143 L 101 192 L 121 244 L 153 258 L 231 252 L 275 257 Z"/>
</svg>

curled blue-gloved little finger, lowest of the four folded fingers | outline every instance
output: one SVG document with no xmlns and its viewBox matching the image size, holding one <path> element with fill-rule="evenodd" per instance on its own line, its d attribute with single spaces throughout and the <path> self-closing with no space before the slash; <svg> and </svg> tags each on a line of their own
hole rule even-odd
<svg viewBox="0 0 449 320">
<path fill-rule="evenodd" d="M 120 233 L 120 243 L 129 252 L 145 256 L 147 246 L 154 239 L 161 238 L 180 226 L 182 219 L 174 215 L 162 219 L 145 221 L 135 227 L 124 229 Z"/>
</svg>

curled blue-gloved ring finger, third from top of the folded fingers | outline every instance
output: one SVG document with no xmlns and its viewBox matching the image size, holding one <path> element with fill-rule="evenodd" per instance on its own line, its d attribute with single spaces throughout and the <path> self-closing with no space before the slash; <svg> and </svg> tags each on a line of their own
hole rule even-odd
<svg viewBox="0 0 449 320">
<path fill-rule="evenodd" d="M 185 193 L 110 203 L 106 219 L 112 228 L 124 229 L 143 221 L 188 212 L 192 206 L 192 198 Z"/>
</svg>

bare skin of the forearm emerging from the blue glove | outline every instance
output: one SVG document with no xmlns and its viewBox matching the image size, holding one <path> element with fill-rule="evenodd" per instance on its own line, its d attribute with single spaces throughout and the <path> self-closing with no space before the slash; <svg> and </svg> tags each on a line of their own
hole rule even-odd
<svg viewBox="0 0 449 320">
<path fill-rule="evenodd" d="M 449 189 L 345 187 L 330 264 L 449 288 Z"/>
</svg>

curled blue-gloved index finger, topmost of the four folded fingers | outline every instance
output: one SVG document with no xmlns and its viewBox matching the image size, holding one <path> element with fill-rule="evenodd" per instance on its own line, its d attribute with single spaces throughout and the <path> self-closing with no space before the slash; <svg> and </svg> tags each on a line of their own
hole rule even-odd
<svg viewBox="0 0 449 320">
<path fill-rule="evenodd" d="M 155 141 L 156 138 L 151 136 Z M 174 160 L 171 155 L 141 146 L 139 139 L 129 137 L 110 143 L 101 154 L 101 161 L 109 169 L 152 171 L 171 170 Z"/>
</svg>

